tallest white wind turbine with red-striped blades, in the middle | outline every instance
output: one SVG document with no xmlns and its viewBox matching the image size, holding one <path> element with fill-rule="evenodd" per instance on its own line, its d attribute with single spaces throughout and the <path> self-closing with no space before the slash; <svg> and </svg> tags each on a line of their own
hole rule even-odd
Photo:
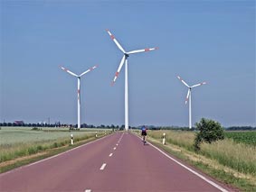
<svg viewBox="0 0 256 192">
<path fill-rule="evenodd" d="M 126 63 L 126 71 L 125 71 L 125 129 L 128 131 L 128 57 L 130 54 L 138 53 L 138 52 L 146 52 L 149 50 L 157 50 L 158 48 L 147 48 L 144 50 L 131 50 L 131 51 L 125 51 L 122 46 L 119 44 L 119 41 L 116 40 L 114 35 L 109 32 L 109 30 L 106 30 L 109 33 L 110 38 L 116 43 L 119 50 L 121 50 L 124 53 L 123 58 L 121 59 L 121 62 L 119 64 L 119 69 L 115 74 L 115 78 L 112 81 L 112 85 L 116 82 L 117 78 L 119 77 L 119 72 L 122 69 L 124 63 Z"/>
</svg>

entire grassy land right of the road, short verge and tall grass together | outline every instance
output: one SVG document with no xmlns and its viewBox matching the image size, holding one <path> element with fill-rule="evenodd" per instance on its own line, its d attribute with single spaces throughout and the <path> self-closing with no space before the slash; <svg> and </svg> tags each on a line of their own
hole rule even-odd
<svg viewBox="0 0 256 192">
<path fill-rule="evenodd" d="M 163 133 L 166 133 L 167 145 L 160 147 L 168 151 L 168 146 L 172 145 L 172 153 L 202 167 L 204 171 L 211 168 L 208 173 L 214 177 L 240 187 L 242 191 L 256 190 L 256 145 L 251 142 L 255 139 L 255 132 L 225 133 L 229 137 L 212 144 L 203 143 L 199 153 L 194 152 L 194 132 L 149 131 L 148 136 L 160 143 Z M 238 135 L 243 139 L 238 140 Z"/>
</svg>

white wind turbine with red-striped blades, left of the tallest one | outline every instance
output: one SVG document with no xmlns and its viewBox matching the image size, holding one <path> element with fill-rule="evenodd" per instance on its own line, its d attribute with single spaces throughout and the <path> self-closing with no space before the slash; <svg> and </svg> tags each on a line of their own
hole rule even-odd
<svg viewBox="0 0 256 192">
<path fill-rule="evenodd" d="M 71 72 L 69 69 L 65 69 L 63 67 L 61 67 L 62 70 L 66 71 L 67 73 L 71 74 L 71 76 L 74 76 L 77 78 L 77 95 L 78 95 L 78 100 L 77 100 L 77 124 L 78 124 L 78 128 L 81 128 L 81 77 L 83 75 L 85 75 L 86 73 L 90 72 L 91 70 L 97 68 L 97 66 L 93 66 L 90 69 L 87 69 L 86 71 L 84 71 L 83 73 L 81 73 L 81 75 L 77 75 L 73 72 Z"/>
</svg>

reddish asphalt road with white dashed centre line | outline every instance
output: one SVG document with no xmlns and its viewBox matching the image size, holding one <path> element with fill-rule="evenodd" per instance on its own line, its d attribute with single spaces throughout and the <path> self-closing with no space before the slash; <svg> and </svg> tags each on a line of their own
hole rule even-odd
<svg viewBox="0 0 256 192">
<path fill-rule="evenodd" d="M 131 133 L 0 174 L 0 191 L 232 191 Z"/>
</svg>

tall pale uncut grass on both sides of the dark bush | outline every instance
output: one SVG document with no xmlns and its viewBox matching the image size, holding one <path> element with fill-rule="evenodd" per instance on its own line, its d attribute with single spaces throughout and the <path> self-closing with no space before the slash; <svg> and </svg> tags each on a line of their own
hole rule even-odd
<svg viewBox="0 0 256 192">
<path fill-rule="evenodd" d="M 194 132 L 151 131 L 148 135 L 154 139 L 161 140 L 163 133 L 166 133 L 166 142 L 185 148 L 188 151 L 194 151 Z M 250 136 L 246 137 L 248 141 L 243 139 L 242 141 L 244 142 L 236 142 L 236 139 L 226 137 L 223 141 L 213 142 L 212 144 L 203 143 L 200 154 L 207 158 L 217 160 L 223 166 L 235 169 L 244 174 L 251 174 L 255 177 L 256 148 L 255 144 L 247 144 L 251 143 L 253 139 L 255 141 L 255 132 L 233 133 L 233 135 L 237 134 Z"/>
</svg>

